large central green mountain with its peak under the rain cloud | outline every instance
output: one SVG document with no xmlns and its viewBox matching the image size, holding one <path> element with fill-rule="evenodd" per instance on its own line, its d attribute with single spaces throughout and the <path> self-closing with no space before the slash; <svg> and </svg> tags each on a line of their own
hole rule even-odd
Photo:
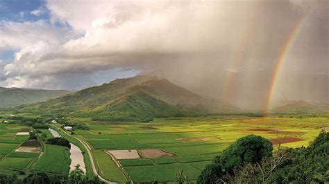
<svg viewBox="0 0 329 184">
<path fill-rule="evenodd" d="M 236 110 L 151 75 L 117 79 L 60 98 L 20 107 L 22 111 L 91 117 L 93 120 L 140 121 Z"/>
</svg>

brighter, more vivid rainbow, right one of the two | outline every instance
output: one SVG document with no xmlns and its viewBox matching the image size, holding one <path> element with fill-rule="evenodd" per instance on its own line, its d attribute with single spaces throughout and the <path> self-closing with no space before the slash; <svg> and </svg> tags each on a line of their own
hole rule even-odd
<svg viewBox="0 0 329 184">
<path fill-rule="evenodd" d="M 298 19 L 298 21 L 296 21 L 296 24 L 294 25 L 291 32 L 289 33 L 285 41 L 285 44 L 282 46 L 282 49 L 280 50 L 280 54 L 276 59 L 276 66 L 273 75 L 271 77 L 271 83 L 269 85 L 269 93 L 267 95 L 267 111 L 266 111 L 267 113 L 271 111 L 271 108 L 273 106 L 273 96 L 278 85 L 278 78 L 280 77 L 280 72 L 282 71 L 282 66 L 285 62 L 285 59 L 287 58 L 289 50 L 294 45 L 294 42 L 296 42 L 296 38 L 298 37 L 298 34 L 301 32 L 301 28 L 303 27 L 303 24 L 307 20 L 307 17 L 309 17 L 310 13 L 311 10 L 308 10 L 307 12 L 303 13 L 303 15 Z"/>
</svg>

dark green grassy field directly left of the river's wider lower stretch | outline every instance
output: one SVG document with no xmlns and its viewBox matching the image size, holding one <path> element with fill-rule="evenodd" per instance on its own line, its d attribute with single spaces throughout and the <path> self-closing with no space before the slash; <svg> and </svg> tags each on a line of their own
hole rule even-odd
<svg viewBox="0 0 329 184">
<path fill-rule="evenodd" d="M 32 170 L 54 174 L 69 174 L 69 149 L 58 145 L 45 144 L 44 154 L 37 160 Z"/>
</svg>

